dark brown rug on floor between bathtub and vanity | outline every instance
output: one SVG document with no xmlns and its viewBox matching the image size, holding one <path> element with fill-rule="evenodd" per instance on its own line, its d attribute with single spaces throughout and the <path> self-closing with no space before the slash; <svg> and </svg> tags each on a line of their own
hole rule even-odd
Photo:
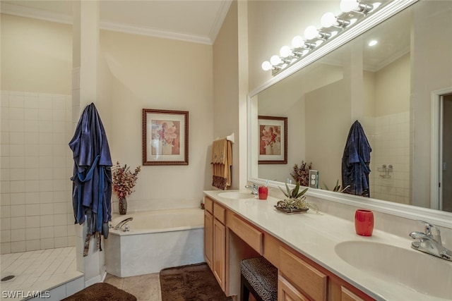
<svg viewBox="0 0 452 301">
<path fill-rule="evenodd" d="M 206 263 L 176 266 L 160 271 L 162 301 L 226 301 L 215 276 Z"/>
</svg>

